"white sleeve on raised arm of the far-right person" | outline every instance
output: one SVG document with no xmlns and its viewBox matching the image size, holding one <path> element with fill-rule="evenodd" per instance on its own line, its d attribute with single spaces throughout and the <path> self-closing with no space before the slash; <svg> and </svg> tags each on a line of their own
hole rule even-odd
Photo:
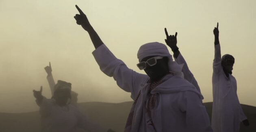
<svg viewBox="0 0 256 132">
<path fill-rule="evenodd" d="M 214 53 L 214 60 L 213 60 L 213 72 L 219 73 L 222 70 L 220 44 L 216 44 L 214 48 L 215 48 L 215 53 Z"/>
</svg>

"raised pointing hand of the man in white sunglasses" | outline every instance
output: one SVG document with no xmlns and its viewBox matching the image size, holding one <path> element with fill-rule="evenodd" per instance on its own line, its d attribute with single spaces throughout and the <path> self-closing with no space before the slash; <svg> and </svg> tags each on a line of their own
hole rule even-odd
<svg viewBox="0 0 256 132">
<path fill-rule="evenodd" d="M 85 29 L 86 31 L 89 31 L 89 29 L 91 29 L 91 24 L 89 23 L 85 13 L 82 12 L 82 10 L 76 5 L 76 8 L 78 10 L 79 14 L 76 14 L 76 16 L 74 16 L 74 18 L 76 19 L 76 23 L 78 25 L 81 25 L 83 29 Z"/>
</svg>

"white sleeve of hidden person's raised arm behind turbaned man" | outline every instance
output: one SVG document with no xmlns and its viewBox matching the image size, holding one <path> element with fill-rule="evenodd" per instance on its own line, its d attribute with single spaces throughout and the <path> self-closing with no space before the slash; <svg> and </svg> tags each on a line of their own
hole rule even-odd
<svg viewBox="0 0 256 132">
<path fill-rule="evenodd" d="M 174 57 L 174 60 L 178 64 L 184 64 L 184 66 L 182 67 L 182 72 L 184 74 L 184 79 L 189 81 L 191 84 L 193 84 L 195 86 L 195 88 L 197 89 L 197 91 L 201 93 L 200 87 L 198 86 L 197 81 L 195 80 L 194 75 L 189 70 L 189 67 L 188 67 L 185 59 L 183 58 L 182 54 L 180 53 L 177 58 Z"/>
</svg>

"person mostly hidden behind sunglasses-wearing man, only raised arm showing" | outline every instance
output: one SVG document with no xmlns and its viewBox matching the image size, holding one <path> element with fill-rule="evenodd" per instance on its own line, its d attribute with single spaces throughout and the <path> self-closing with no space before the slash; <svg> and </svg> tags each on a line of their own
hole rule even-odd
<svg viewBox="0 0 256 132">
<path fill-rule="evenodd" d="M 189 70 L 189 67 L 185 61 L 185 59 L 182 57 L 179 48 L 177 46 L 177 32 L 174 35 L 168 35 L 167 29 L 165 28 L 165 35 L 166 35 L 166 44 L 171 48 L 171 51 L 174 52 L 174 60 L 180 64 L 183 65 L 182 67 L 182 73 L 184 74 L 184 79 L 189 81 L 191 84 L 195 86 L 195 88 L 198 90 L 198 92 L 201 93 L 200 87 L 197 84 L 197 81 L 195 80 L 194 75 Z"/>
</svg>

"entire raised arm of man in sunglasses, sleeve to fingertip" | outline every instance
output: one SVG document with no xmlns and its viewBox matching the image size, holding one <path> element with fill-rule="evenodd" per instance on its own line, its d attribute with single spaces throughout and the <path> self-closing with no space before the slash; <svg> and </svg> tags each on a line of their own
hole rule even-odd
<svg viewBox="0 0 256 132">
<path fill-rule="evenodd" d="M 132 99 L 135 99 L 139 93 L 139 87 L 141 87 L 142 82 L 148 79 L 148 76 L 129 69 L 123 61 L 117 59 L 114 54 L 108 50 L 106 45 L 103 44 L 82 10 L 77 5 L 76 8 L 80 15 L 76 14 L 74 18 L 76 19 L 76 23 L 81 25 L 82 28 L 89 33 L 95 47 L 93 56 L 100 66 L 101 71 L 113 77 L 117 85 L 123 90 L 131 92 Z"/>
</svg>

